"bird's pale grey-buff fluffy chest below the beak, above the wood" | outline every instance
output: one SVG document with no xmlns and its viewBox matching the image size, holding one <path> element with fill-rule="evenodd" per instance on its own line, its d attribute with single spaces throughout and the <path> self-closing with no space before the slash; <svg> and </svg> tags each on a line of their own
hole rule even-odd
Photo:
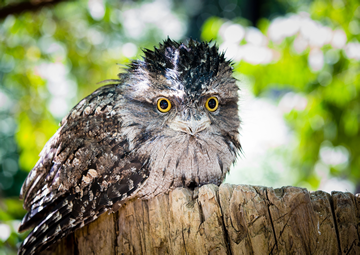
<svg viewBox="0 0 360 255">
<path fill-rule="evenodd" d="M 148 199 L 176 187 L 219 185 L 227 172 L 218 149 L 187 137 L 149 144 L 139 152 L 147 155 L 149 177 L 134 197 Z"/>
</svg>

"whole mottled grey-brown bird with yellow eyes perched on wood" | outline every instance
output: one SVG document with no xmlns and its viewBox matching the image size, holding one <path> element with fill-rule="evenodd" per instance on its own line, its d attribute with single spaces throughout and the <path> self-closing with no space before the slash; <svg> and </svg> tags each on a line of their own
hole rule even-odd
<svg viewBox="0 0 360 255">
<path fill-rule="evenodd" d="M 130 199 L 220 185 L 241 153 L 234 64 L 216 44 L 165 39 L 82 99 L 20 191 L 19 255 L 32 255 Z M 125 205 L 126 206 L 126 205 Z"/>
</svg>

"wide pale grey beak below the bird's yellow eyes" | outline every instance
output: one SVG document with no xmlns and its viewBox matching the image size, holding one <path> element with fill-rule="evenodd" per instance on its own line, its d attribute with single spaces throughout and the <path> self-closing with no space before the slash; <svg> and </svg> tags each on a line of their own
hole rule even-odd
<svg viewBox="0 0 360 255">
<path fill-rule="evenodd" d="M 194 117 L 191 117 L 189 121 L 184 121 L 176 117 L 169 123 L 169 127 L 175 131 L 195 135 L 206 129 L 210 124 L 211 121 L 208 117 L 202 117 L 200 120 L 195 120 Z"/>
</svg>

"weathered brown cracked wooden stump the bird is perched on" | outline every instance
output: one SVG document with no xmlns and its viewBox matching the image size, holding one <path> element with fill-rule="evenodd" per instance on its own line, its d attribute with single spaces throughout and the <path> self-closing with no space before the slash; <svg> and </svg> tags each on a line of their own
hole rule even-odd
<svg viewBox="0 0 360 255">
<path fill-rule="evenodd" d="M 51 253 L 360 254 L 360 194 L 229 184 L 178 188 L 101 216 Z"/>
</svg>

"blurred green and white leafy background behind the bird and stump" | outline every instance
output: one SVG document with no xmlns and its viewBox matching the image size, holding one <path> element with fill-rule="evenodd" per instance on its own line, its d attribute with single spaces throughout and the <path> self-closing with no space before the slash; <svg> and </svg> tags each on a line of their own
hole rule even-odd
<svg viewBox="0 0 360 255">
<path fill-rule="evenodd" d="M 168 36 L 235 63 L 226 182 L 360 192 L 358 0 L 0 0 L 0 255 L 27 234 L 20 187 L 61 119 Z"/>
</svg>

